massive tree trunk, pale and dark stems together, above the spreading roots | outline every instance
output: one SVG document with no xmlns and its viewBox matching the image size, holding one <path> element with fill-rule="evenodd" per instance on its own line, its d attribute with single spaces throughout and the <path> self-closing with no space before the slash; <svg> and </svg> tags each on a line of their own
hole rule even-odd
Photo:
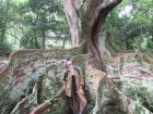
<svg viewBox="0 0 153 114">
<path fill-rule="evenodd" d="M 121 0 L 64 0 L 72 46 L 86 41 L 87 52 L 92 53 L 89 64 L 94 68 L 105 71 L 102 54 L 105 50 L 101 46 L 104 45 L 101 41 L 105 41 L 105 37 L 102 33 L 105 33 L 108 13 L 120 2 Z"/>
</svg>

